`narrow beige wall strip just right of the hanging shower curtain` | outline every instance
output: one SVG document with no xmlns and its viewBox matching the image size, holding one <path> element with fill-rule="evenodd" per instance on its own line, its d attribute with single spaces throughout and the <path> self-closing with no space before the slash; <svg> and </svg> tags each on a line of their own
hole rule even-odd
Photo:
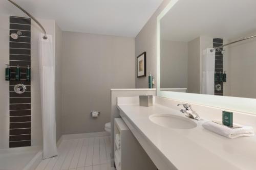
<svg viewBox="0 0 256 170">
<path fill-rule="evenodd" d="M 55 114 L 56 140 L 62 135 L 62 31 L 55 23 Z"/>
</svg>

